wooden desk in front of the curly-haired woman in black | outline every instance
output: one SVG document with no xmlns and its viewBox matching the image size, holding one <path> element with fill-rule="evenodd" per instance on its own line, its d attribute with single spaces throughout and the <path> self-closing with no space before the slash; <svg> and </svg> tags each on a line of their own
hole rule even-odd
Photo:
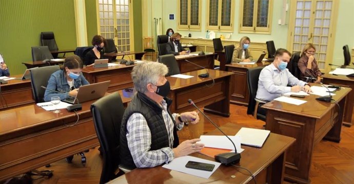
<svg viewBox="0 0 354 184">
<path fill-rule="evenodd" d="M 118 62 L 116 62 L 118 64 Z M 131 70 L 134 65 L 120 64 L 117 66 L 109 66 L 102 68 L 95 68 L 94 66 L 86 66 L 83 68 L 82 73 L 89 83 L 97 83 L 110 80 L 107 92 L 133 87 L 131 80 Z"/>
</svg>

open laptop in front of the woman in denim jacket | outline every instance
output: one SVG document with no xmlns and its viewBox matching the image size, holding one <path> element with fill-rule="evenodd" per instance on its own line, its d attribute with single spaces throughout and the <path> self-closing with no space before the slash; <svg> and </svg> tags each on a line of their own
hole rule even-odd
<svg viewBox="0 0 354 184">
<path fill-rule="evenodd" d="M 111 81 L 104 81 L 80 86 L 80 88 L 78 88 L 76 97 L 72 97 L 62 101 L 67 102 L 69 104 L 77 104 L 94 99 L 99 99 L 105 95 L 110 82 Z"/>
</svg>

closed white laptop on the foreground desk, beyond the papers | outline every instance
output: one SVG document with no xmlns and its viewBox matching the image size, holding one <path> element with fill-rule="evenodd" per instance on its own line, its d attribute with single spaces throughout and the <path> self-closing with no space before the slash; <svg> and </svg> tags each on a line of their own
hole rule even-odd
<svg viewBox="0 0 354 184">
<path fill-rule="evenodd" d="M 241 136 L 241 144 L 261 148 L 269 133 L 269 130 L 242 127 L 236 135 Z"/>
</svg>

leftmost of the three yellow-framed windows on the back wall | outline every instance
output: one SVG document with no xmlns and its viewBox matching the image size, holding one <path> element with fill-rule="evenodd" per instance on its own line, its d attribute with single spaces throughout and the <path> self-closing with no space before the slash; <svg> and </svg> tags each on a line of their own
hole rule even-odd
<svg viewBox="0 0 354 184">
<path fill-rule="evenodd" d="M 179 0 L 178 5 L 178 30 L 200 30 L 201 0 Z"/>
</svg>

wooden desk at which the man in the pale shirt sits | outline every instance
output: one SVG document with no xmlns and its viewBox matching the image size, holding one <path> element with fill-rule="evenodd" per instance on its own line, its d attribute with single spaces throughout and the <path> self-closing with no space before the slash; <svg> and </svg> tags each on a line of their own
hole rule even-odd
<svg viewBox="0 0 354 184">
<path fill-rule="evenodd" d="M 343 107 L 350 91 L 350 88 L 343 87 L 333 96 L 341 110 L 335 103 L 316 100 L 318 96 L 315 95 L 305 97 L 303 100 L 307 102 L 299 106 L 279 101 L 271 101 L 262 106 L 267 109 L 267 130 L 296 139 L 286 155 L 286 180 L 310 183 L 309 171 L 314 145 L 323 138 L 340 142 Z"/>
</svg>

